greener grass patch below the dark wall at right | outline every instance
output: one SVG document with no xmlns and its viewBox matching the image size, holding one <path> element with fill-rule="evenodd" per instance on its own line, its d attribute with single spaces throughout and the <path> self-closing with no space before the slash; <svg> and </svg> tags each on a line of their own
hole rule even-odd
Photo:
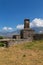
<svg viewBox="0 0 43 65">
<path fill-rule="evenodd" d="M 25 49 L 36 49 L 43 50 L 43 41 L 33 41 L 27 44 L 24 44 Z"/>
</svg>

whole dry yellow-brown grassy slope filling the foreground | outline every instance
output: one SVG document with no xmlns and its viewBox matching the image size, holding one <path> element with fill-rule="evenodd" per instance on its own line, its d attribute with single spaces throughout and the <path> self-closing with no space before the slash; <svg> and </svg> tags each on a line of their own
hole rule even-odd
<svg viewBox="0 0 43 65">
<path fill-rule="evenodd" d="M 43 65 L 43 41 L 0 48 L 0 65 Z"/>
</svg>

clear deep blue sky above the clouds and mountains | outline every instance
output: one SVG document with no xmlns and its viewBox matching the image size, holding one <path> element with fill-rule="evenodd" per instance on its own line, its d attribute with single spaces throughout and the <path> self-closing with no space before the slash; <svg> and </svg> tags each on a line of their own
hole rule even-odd
<svg viewBox="0 0 43 65">
<path fill-rule="evenodd" d="M 43 0 L 0 0 L 0 30 L 16 29 L 25 18 L 43 23 Z"/>
</svg>

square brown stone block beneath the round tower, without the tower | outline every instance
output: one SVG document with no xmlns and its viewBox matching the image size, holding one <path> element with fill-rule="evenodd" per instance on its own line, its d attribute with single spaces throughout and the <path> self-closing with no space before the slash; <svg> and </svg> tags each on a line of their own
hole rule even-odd
<svg viewBox="0 0 43 65">
<path fill-rule="evenodd" d="M 30 28 L 21 30 L 21 34 L 20 34 L 21 39 L 29 39 L 29 38 L 33 39 L 33 35 L 34 35 L 34 30 Z"/>
</svg>

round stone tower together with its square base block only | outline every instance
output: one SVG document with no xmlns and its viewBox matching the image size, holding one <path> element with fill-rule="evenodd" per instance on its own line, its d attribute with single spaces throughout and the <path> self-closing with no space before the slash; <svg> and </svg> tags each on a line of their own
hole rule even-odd
<svg viewBox="0 0 43 65">
<path fill-rule="evenodd" d="M 24 29 L 20 31 L 21 39 L 33 39 L 34 30 L 30 28 L 30 20 L 25 19 L 24 20 Z"/>
</svg>

